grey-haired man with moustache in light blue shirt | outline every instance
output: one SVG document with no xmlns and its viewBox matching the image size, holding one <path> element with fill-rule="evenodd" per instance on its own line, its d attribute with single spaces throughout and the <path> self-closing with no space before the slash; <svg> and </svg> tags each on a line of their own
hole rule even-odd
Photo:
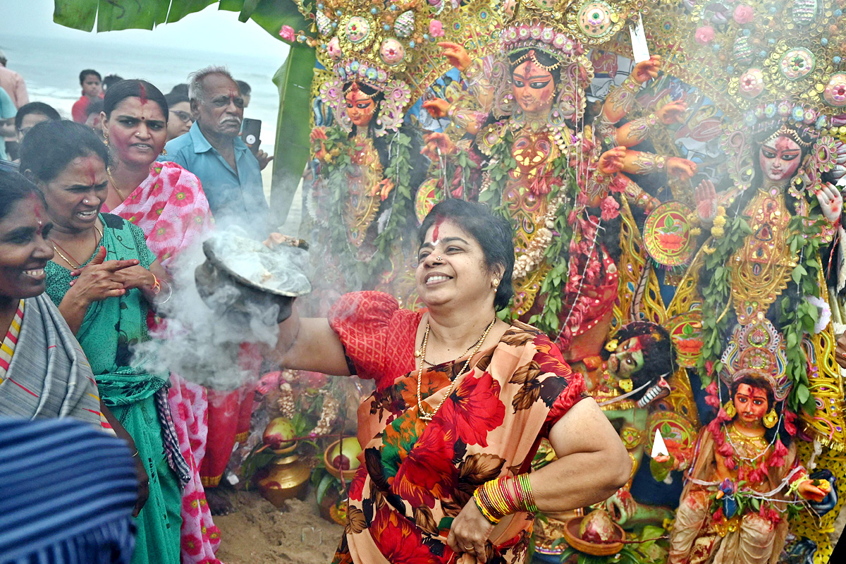
<svg viewBox="0 0 846 564">
<path fill-rule="evenodd" d="M 188 97 L 196 121 L 187 134 L 168 141 L 168 160 L 193 172 L 218 222 L 231 221 L 256 236 L 267 234 L 268 207 L 261 168 L 239 138 L 244 98 L 224 67 L 190 74 Z"/>
</svg>

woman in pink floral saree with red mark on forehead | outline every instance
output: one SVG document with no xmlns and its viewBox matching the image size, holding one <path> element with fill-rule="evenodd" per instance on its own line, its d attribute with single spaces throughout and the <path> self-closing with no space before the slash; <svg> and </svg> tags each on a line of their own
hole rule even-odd
<svg viewBox="0 0 846 564">
<path fill-rule="evenodd" d="M 168 105 L 144 80 L 123 80 L 103 100 L 103 133 L 113 156 L 102 211 L 135 223 L 162 266 L 201 241 L 213 220 L 200 180 L 173 162 L 157 162 L 167 138 Z M 153 325 L 152 317 L 150 318 Z M 168 404 L 182 452 L 191 469 L 182 495 L 181 561 L 216 564 L 220 531 L 211 521 L 201 483 L 206 452 L 206 389 L 171 374 Z"/>
</svg>

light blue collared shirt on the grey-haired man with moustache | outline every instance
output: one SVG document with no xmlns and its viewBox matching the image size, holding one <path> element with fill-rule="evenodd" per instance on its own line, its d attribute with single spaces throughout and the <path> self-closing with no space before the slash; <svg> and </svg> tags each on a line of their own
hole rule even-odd
<svg viewBox="0 0 846 564">
<path fill-rule="evenodd" d="M 235 172 L 194 123 L 187 134 L 168 141 L 166 159 L 193 172 L 203 186 L 218 221 L 231 217 L 241 227 L 266 235 L 268 207 L 261 187 L 261 168 L 240 137 L 235 146 Z"/>
</svg>

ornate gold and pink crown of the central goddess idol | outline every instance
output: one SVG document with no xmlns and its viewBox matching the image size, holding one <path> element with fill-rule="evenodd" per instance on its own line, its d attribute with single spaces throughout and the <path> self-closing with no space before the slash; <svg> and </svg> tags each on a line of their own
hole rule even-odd
<svg viewBox="0 0 846 564">
<path fill-rule="evenodd" d="M 519 119 L 519 105 L 512 93 L 508 57 L 523 52 L 537 66 L 558 71 L 558 96 L 549 122 L 580 118 L 585 112 L 585 88 L 593 79 L 593 66 L 585 57 L 585 46 L 600 45 L 621 30 L 629 17 L 645 4 L 644 0 L 608 3 L 602 0 L 518 0 L 514 19 L 501 37 L 504 58 L 493 69 L 497 81 L 494 113 Z M 546 53 L 558 63 L 538 63 L 536 52 Z M 523 60 L 521 57 L 521 61 Z"/>
</svg>

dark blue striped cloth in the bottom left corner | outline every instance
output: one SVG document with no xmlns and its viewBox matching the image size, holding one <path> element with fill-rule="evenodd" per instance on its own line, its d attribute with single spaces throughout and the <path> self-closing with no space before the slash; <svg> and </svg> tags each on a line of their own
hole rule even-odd
<svg viewBox="0 0 846 564">
<path fill-rule="evenodd" d="M 129 447 L 74 419 L 0 418 L 0 563 L 129 562 Z"/>
</svg>

